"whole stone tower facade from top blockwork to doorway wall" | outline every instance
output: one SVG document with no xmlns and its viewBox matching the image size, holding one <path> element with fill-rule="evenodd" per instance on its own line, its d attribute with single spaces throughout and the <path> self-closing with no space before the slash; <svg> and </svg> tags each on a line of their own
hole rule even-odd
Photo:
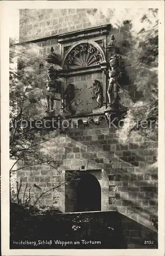
<svg viewBox="0 0 165 256">
<path fill-rule="evenodd" d="M 157 215 L 157 138 L 146 141 L 134 134 L 123 145 L 116 135 L 117 129 L 107 122 L 108 79 L 103 71 L 105 62 L 122 40 L 125 31 L 111 27 L 107 18 L 99 18 L 93 27 L 87 21 L 86 9 L 21 10 L 20 42 L 34 42 L 45 55 L 51 47 L 62 57 L 62 94 L 59 109 L 64 108 L 64 92 L 68 84 L 74 85 L 71 112 L 66 120 L 74 123 L 65 134 L 51 135 L 49 149 L 54 155 L 56 168 L 50 166 L 27 167 L 18 171 L 18 179 L 28 186 L 37 184 L 46 191 L 38 201 L 63 212 L 86 210 L 117 210 L 136 222 L 153 228 L 152 216 Z M 108 51 L 110 46 L 112 51 Z M 126 108 L 140 98 L 133 86 L 135 69 L 127 53 L 122 55 L 129 82 L 124 89 L 130 98 L 119 91 Z M 100 62 L 102 69 L 100 68 Z M 100 82 L 102 106 L 97 106 L 93 81 Z M 78 125 L 77 125 L 78 124 Z M 32 188 L 33 196 L 40 190 Z M 23 194 L 23 190 L 22 190 Z M 83 197 L 84 195 L 84 197 Z M 87 196 L 88 195 L 88 196 Z M 97 198 L 97 200 L 96 200 Z"/>
</svg>

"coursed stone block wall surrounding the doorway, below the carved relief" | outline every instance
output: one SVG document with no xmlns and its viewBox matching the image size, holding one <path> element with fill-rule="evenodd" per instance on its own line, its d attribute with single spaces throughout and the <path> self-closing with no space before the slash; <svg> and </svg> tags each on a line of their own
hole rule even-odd
<svg viewBox="0 0 165 256">
<path fill-rule="evenodd" d="M 53 136 L 53 134 L 52 134 Z M 65 211 L 65 172 L 67 170 L 103 170 L 102 210 L 113 210 L 151 227 L 151 217 L 157 214 L 157 142 L 136 136 L 127 145 L 120 143 L 114 128 L 104 121 L 79 129 L 69 129 L 66 135 L 51 138 L 45 145 L 55 159 L 55 168 L 32 166 L 19 171 L 19 180 L 33 187 L 32 197 L 59 186 L 38 201 L 41 205 L 58 207 Z M 83 169 L 83 170 L 84 170 Z M 57 197 L 55 199 L 55 197 Z M 32 198 L 31 203 L 35 201 Z"/>
</svg>

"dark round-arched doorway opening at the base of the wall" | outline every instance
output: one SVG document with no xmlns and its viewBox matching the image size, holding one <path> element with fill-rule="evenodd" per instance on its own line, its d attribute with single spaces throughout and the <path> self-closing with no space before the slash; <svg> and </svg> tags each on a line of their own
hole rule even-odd
<svg viewBox="0 0 165 256">
<path fill-rule="evenodd" d="M 97 178 L 85 174 L 77 186 L 77 211 L 101 211 L 101 187 Z"/>
</svg>

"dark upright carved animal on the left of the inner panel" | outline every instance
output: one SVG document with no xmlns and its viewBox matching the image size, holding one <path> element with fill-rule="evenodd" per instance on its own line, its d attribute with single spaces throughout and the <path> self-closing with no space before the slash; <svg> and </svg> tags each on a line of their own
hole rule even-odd
<svg viewBox="0 0 165 256">
<path fill-rule="evenodd" d="M 72 113 L 72 108 L 71 108 L 72 102 L 71 101 L 74 99 L 74 97 L 75 97 L 74 84 L 69 83 L 64 92 L 64 100 L 62 103 L 62 106 L 63 106 L 65 112 Z"/>
</svg>

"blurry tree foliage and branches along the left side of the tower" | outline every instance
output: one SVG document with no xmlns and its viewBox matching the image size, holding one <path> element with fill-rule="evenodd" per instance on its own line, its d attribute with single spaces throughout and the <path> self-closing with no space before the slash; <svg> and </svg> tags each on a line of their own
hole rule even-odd
<svg viewBox="0 0 165 256">
<path fill-rule="evenodd" d="M 45 115 L 47 66 L 37 45 L 10 40 L 10 158 L 15 159 L 11 170 L 18 161 L 17 169 L 53 160 L 42 145 L 49 139 L 48 129 L 29 125 Z"/>
</svg>

